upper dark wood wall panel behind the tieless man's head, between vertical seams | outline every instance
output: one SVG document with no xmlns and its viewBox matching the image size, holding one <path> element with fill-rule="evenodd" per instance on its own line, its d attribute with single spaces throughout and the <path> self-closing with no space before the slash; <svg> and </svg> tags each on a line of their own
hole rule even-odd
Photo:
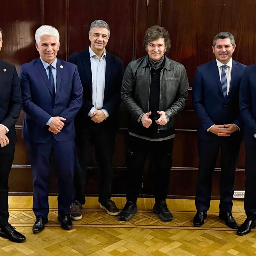
<svg viewBox="0 0 256 256">
<path fill-rule="evenodd" d="M 99 7 L 104 11 L 99 11 Z M 106 49 L 127 65 L 133 56 L 135 8 L 135 1 L 69 1 L 69 54 L 88 49 L 90 24 L 96 19 L 102 19 L 110 27 Z"/>
</svg>

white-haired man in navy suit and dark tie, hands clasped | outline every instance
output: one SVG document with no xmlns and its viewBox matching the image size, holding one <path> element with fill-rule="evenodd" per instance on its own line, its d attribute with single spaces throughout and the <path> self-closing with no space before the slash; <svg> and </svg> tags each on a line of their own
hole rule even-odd
<svg viewBox="0 0 256 256">
<path fill-rule="evenodd" d="M 50 158 L 58 174 L 58 220 L 62 228 L 72 228 L 74 117 L 82 105 L 83 88 L 77 66 L 56 58 L 58 30 L 41 26 L 35 38 L 40 57 L 21 66 L 20 83 L 26 113 L 23 137 L 33 174 L 33 233 L 38 233 L 48 222 Z"/>
</svg>

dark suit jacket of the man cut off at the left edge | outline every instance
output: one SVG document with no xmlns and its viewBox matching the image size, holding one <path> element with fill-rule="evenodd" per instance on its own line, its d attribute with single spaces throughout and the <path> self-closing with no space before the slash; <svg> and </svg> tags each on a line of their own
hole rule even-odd
<svg viewBox="0 0 256 256">
<path fill-rule="evenodd" d="M 4 71 L 6 70 L 6 71 Z M 17 141 L 15 123 L 22 108 L 20 81 L 14 65 L 0 60 L 0 124 L 9 129 L 9 143 Z"/>
</svg>

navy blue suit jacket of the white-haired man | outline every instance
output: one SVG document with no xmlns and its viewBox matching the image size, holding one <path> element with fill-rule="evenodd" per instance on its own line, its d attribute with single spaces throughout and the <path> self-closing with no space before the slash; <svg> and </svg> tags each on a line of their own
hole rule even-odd
<svg viewBox="0 0 256 256">
<path fill-rule="evenodd" d="M 60 68 L 62 66 L 62 68 Z M 57 59 L 56 97 L 40 58 L 20 68 L 20 85 L 25 118 L 23 137 L 36 143 L 45 143 L 51 136 L 57 141 L 75 138 L 74 117 L 82 105 L 83 88 L 77 66 Z M 65 126 L 54 135 L 46 125 L 51 116 L 61 116 Z"/>
</svg>

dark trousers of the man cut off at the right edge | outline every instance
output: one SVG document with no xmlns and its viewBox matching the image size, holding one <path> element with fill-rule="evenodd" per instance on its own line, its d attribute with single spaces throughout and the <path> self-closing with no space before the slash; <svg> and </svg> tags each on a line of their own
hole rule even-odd
<svg viewBox="0 0 256 256">
<path fill-rule="evenodd" d="M 245 145 L 244 209 L 248 218 L 256 219 L 256 148 Z"/>
</svg>

